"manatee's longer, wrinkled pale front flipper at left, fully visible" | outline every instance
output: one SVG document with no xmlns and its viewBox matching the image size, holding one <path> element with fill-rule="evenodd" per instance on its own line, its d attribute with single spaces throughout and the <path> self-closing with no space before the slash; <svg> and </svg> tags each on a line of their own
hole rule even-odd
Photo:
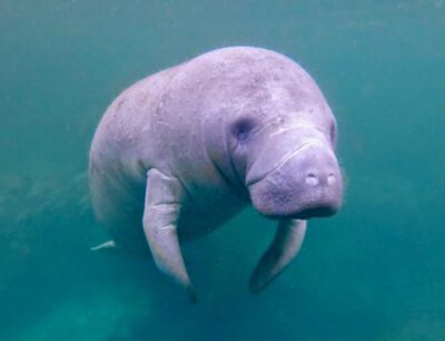
<svg viewBox="0 0 445 341">
<path fill-rule="evenodd" d="M 196 301 L 177 233 L 184 193 L 178 179 L 150 169 L 147 173 L 142 223 L 156 265 L 184 286 L 190 299 Z"/>
</svg>

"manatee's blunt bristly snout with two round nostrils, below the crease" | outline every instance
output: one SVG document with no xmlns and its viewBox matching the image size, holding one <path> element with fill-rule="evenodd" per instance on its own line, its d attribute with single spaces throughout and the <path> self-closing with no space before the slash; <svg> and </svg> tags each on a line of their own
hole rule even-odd
<svg viewBox="0 0 445 341">
<path fill-rule="evenodd" d="M 320 143 L 298 147 L 248 187 L 258 212 L 274 218 L 330 216 L 342 205 L 343 178 L 338 162 L 332 148 Z"/>
</svg>

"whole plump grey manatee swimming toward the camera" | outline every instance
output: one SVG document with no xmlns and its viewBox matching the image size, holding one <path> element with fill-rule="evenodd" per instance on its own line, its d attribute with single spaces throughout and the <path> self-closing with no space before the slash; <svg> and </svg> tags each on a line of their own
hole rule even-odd
<svg viewBox="0 0 445 341">
<path fill-rule="evenodd" d="M 95 214 L 116 245 L 148 242 L 156 265 L 195 298 L 181 242 L 253 205 L 278 221 L 250 279 L 258 292 L 300 249 L 306 220 L 338 211 L 336 138 L 332 110 L 295 61 L 214 50 L 136 82 L 108 108 L 90 150 Z"/>
</svg>

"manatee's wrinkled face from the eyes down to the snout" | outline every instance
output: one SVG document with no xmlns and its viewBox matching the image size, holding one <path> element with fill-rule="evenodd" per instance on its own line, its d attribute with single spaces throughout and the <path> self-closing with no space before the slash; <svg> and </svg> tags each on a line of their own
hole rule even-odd
<svg viewBox="0 0 445 341">
<path fill-rule="evenodd" d="M 334 153 L 337 127 L 327 106 L 240 115 L 231 134 L 234 165 L 260 214 L 307 220 L 338 211 L 343 179 Z"/>
</svg>

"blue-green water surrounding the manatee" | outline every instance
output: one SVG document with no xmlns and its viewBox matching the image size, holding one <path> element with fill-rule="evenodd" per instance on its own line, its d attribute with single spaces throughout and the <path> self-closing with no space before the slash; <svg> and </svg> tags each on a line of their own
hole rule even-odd
<svg viewBox="0 0 445 341">
<path fill-rule="evenodd" d="M 0 340 L 445 340 L 445 1 L 0 2 Z M 217 47 L 299 61 L 339 127 L 342 212 L 260 295 L 274 224 L 184 245 L 191 305 L 105 241 L 93 129 L 136 79 Z"/>
</svg>

